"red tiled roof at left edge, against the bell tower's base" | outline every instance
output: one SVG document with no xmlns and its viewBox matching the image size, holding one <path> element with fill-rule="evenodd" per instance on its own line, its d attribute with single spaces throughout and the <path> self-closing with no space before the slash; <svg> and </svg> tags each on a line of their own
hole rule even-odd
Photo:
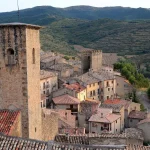
<svg viewBox="0 0 150 150">
<path fill-rule="evenodd" d="M 20 111 L 0 110 L 0 132 L 9 135 Z"/>
</svg>

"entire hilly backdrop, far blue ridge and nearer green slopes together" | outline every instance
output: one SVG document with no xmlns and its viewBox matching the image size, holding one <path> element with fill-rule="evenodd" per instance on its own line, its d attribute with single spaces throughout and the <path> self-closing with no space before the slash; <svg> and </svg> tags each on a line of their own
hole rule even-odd
<svg viewBox="0 0 150 150">
<path fill-rule="evenodd" d="M 150 52 L 150 10 L 144 8 L 38 6 L 20 10 L 20 22 L 45 26 L 43 50 L 76 53 L 81 45 L 121 55 Z M 137 21 L 138 20 L 138 21 Z M 0 13 L 0 23 L 18 22 L 17 11 Z"/>
</svg>

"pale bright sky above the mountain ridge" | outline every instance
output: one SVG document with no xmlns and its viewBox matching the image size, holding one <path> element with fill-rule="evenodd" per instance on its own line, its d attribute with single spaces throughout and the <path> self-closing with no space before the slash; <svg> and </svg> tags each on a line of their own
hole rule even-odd
<svg viewBox="0 0 150 150">
<path fill-rule="evenodd" d="M 150 8 L 150 0 L 18 0 L 20 9 L 41 5 L 68 7 L 74 5 L 91 5 L 96 7 L 124 6 Z M 0 0 L 0 12 L 17 9 L 17 0 Z"/>
</svg>

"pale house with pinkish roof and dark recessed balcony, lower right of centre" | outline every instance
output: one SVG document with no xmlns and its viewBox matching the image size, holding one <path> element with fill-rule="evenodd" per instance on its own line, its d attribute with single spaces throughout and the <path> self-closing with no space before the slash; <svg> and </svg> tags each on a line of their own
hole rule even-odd
<svg viewBox="0 0 150 150">
<path fill-rule="evenodd" d="M 90 133 L 120 133 L 121 116 L 112 113 L 112 109 L 99 108 L 89 119 Z"/>
</svg>

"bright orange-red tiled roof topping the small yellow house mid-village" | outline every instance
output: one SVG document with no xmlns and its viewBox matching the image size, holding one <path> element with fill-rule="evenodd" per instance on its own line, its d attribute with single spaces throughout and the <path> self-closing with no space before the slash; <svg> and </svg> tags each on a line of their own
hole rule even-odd
<svg viewBox="0 0 150 150">
<path fill-rule="evenodd" d="M 81 91 L 83 91 L 83 90 L 86 89 L 84 86 L 80 85 L 79 83 L 64 84 L 64 86 L 65 86 L 67 89 L 74 90 L 74 91 L 76 91 L 76 92 L 81 92 Z"/>
</svg>

